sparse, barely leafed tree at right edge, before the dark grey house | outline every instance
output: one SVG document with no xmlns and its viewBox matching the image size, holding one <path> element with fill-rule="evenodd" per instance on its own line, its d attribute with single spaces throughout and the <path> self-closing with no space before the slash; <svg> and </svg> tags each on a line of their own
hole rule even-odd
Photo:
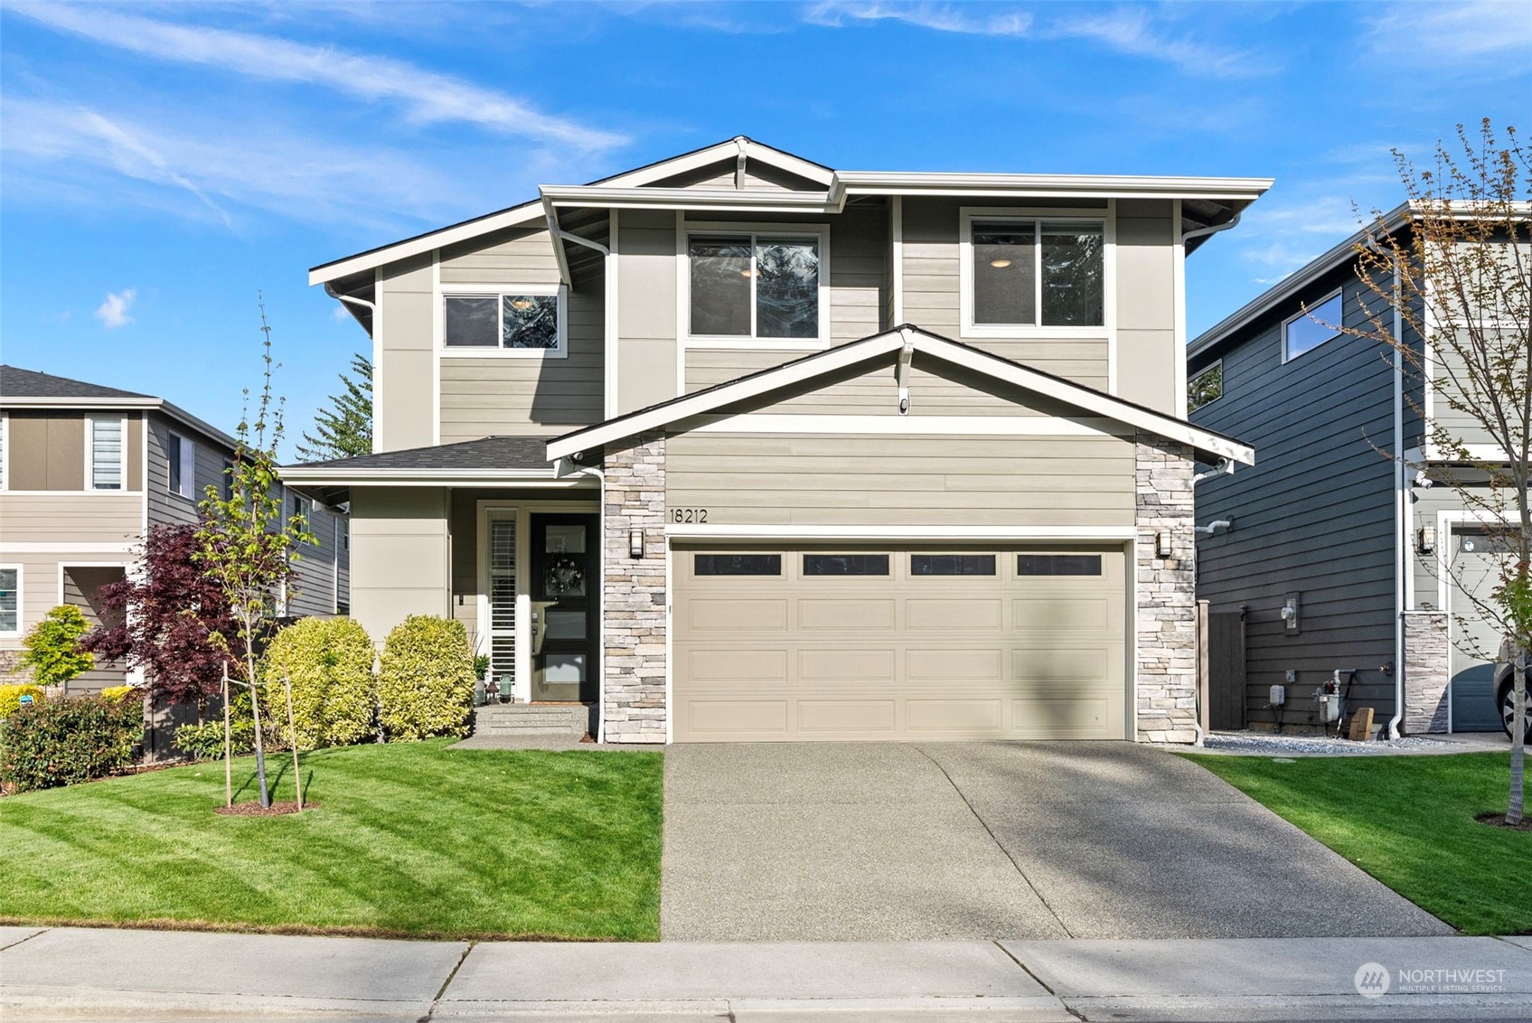
<svg viewBox="0 0 1532 1023">
<path fill-rule="evenodd" d="M 1532 649 L 1532 162 L 1506 129 L 1498 142 L 1488 119 L 1458 147 L 1437 144 L 1434 167 L 1417 168 L 1397 150 L 1408 194 L 1403 227 L 1382 216 L 1357 245 L 1357 276 L 1380 302 L 1367 328 L 1383 338 L 1416 394 L 1425 452 L 1411 467 L 1448 487 L 1485 524 L 1497 579 L 1489 594 L 1462 585 L 1474 613 L 1504 637 L 1514 665 L 1511 789 L 1506 822 L 1523 815 L 1526 669 Z M 1396 315 L 1399 328 L 1396 329 Z M 1419 338 L 1425 338 L 1422 343 Z M 1402 456 L 1396 452 L 1396 456 Z M 1448 562 L 1449 573 L 1460 573 Z M 1454 642 L 1485 660 L 1457 617 Z"/>
</svg>

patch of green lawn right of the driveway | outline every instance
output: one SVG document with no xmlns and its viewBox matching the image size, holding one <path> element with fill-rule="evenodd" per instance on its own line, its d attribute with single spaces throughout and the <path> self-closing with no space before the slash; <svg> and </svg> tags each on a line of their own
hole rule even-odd
<svg viewBox="0 0 1532 1023">
<path fill-rule="evenodd" d="M 1509 753 L 1183 755 L 1452 927 L 1532 934 L 1532 832 L 1474 819 L 1506 812 Z"/>
</svg>

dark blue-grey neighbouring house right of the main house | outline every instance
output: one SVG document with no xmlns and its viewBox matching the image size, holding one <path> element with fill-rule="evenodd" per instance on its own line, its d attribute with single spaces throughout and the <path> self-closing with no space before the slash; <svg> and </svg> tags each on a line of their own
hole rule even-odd
<svg viewBox="0 0 1532 1023">
<path fill-rule="evenodd" d="M 1399 207 L 1385 224 L 1408 231 L 1408 219 Z M 1368 309 L 1394 317 L 1357 277 L 1360 242 L 1359 231 L 1187 348 L 1192 421 L 1261 452 L 1255 469 L 1196 485 L 1198 522 L 1232 524 L 1196 544 L 1198 597 L 1213 613 L 1213 727 L 1318 727 L 1314 689 L 1337 671 L 1347 714 L 1373 708 L 1385 732 L 1501 727 L 1494 665 L 1458 636 L 1462 619 L 1481 649 L 1500 646 L 1463 591 L 1489 596 L 1489 538 L 1458 495 L 1432 485 L 1478 470 L 1425 443 L 1419 410 L 1452 412 L 1420 394 L 1385 340 L 1333 329 L 1371 331 Z M 1403 320 L 1393 331 L 1422 351 Z M 1448 426 L 1474 447 L 1488 440 L 1466 420 Z"/>
</svg>

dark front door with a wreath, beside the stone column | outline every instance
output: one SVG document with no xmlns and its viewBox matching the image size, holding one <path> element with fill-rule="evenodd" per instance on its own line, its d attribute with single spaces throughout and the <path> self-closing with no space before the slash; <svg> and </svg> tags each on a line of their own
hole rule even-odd
<svg viewBox="0 0 1532 1023">
<path fill-rule="evenodd" d="M 599 521 L 532 516 L 533 701 L 596 701 Z"/>
</svg>

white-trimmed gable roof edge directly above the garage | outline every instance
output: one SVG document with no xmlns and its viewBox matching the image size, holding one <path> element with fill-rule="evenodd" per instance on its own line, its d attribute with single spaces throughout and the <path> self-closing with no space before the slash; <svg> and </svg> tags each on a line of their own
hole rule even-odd
<svg viewBox="0 0 1532 1023">
<path fill-rule="evenodd" d="M 1052 374 L 1042 372 L 1040 369 L 1033 369 L 1008 358 L 991 355 L 982 349 L 954 342 L 950 337 L 931 334 L 912 325 L 898 326 L 882 334 L 864 337 L 859 342 L 850 342 L 829 351 L 815 352 L 781 366 L 763 369 L 760 372 L 749 374 L 748 377 L 740 377 L 738 380 L 708 387 L 706 391 L 697 391 L 679 398 L 671 398 L 669 401 L 662 401 L 647 409 L 639 409 L 637 412 L 630 412 L 627 415 L 607 420 L 605 423 L 597 423 L 596 426 L 573 430 L 571 433 L 565 433 L 564 436 L 548 441 L 547 458 L 548 461 L 555 461 L 559 458 L 578 456 L 588 450 L 599 450 L 604 444 L 610 444 L 636 433 L 663 429 L 679 423 L 680 420 L 686 420 L 694 415 L 705 415 L 738 401 L 769 395 L 780 387 L 813 380 L 815 377 L 821 377 L 847 366 L 855 366 L 858 363 L 878 358 L 879 355 L 890 355 L 905 348 L 912 349 L 912 352 L 921 352 L 965 369 L 987 374 L 996 380 L 1023 387 L 1034 394 L 1054 398 L 1074 406 L 1082 412 L 1089 412 L 1106 420 L 1143 429 L 1151 433 L 1158 433 L 1160 436 L 1172 441 L 1190 444 L 1198 450 L 1198 453 L 1210 455 L 1212 458 L 1209 458 L 1209 461 L 1227 458 L 1247 466 L 1255 464 L 1255 450 L 1232 436 L 1192 426 L 1186 420 L 1178 420 L 1174 415 L 1166 415 L 1164 412 L 1157 412 L 1155 409 L 1124 401 L 1103 391 L 1074 383 L 1072 380 L 1065 380 L 1063 377 L 1056 377 Z"/>
</svg>

